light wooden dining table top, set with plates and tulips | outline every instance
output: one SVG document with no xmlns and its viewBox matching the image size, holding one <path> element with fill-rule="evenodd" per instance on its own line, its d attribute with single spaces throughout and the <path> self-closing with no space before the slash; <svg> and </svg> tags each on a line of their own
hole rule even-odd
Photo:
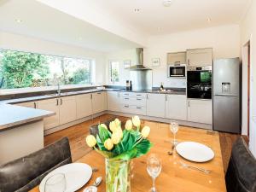
<svg viewBox="0 0 256 192">
<path fill-rule="evenodd" d="M 196 128 L 180 126 L 177 132 L 177 141 L 192 141 L 202 143 L 212 148 L 214 158 L 205 163 L 195 163 L 183 159 L 174 150 L 172 155 L 167 152 L 172 148 L 173 135 L 167 124 L 156 125 L 148 123 L 151 127 L 149 140 L 154 143 L 148 154 L 156 154 L 161 160 L 162 170 L 160 176 L 156 178 L 156 189 L 160 192 L 226 192 L 224 179 L 224 166 L 221 155 L 221 148 L 217 131 L 207 131 Z M 152 124 L 152 125 L 150 125 Z M 196 153 L 196 151 L 195 151 Z M 131 172 L 131 192 L 145 192 L 152 187 L 152 178 L 147 172 L 148 154 L 132 160 Z M 90 181 L 79 189 L 82 192 L 86 186 L 91 185 L 96 177 L 102 176 L 103 180 L 98 191 L 104 192 L 105 189 L 105 160 L 101 154 L 95 150 L 84 155 L 77 162 L 86 163 L 91 167 L 96 167 L 97 172 L 93 172 Z M 211 173 L 200 172 L 191 168 L 181 166 L 180 162 L 189 166 L 198 166 L 209 170 Z M 31 192 L 38 192 L 36 187 Z"/>
</svg>

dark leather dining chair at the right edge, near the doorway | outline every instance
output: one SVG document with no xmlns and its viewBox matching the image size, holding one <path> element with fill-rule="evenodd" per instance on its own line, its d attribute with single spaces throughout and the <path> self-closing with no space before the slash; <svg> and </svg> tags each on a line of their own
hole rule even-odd
<svg viewBox="0 0 256 192">
<path fill-rule="evenodd" d="M 228 192 L 256 192 L 256 160 L 242 137 L 233 145 L 225 179 Z"/>
</svg>

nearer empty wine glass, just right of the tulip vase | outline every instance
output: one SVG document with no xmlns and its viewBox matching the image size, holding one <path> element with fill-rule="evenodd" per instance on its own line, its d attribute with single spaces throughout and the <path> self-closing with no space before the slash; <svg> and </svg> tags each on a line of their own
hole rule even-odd
<svg viewBox="0 0 256 192">
<path fill-rule="evenodd" d="M 153 186 L 152 186 L 152 188 L 149 191 L 150 192 L 156 192 L 156 189 L 155 189 L 155 178 L 158 177 L 160 172 L 161 172 L 161 162 L 157 158 L 156 154 L 150 154 L 148 156 L 147 171 L 148 171 L 148 175 L 150 177 L 152 177 L 152 180 L 153 180 Z"/>
</svg>

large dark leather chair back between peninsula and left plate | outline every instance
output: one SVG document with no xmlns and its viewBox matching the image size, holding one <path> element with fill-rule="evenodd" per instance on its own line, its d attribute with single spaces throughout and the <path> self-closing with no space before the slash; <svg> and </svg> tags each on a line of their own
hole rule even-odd
<svg viewBox="0 0 256 192">
<path fill-rule="evenodd" d="M 0 166 L 0 192 L 27 192 L 59 166 L 72 163 L 67 137 Z"/>
</svg>

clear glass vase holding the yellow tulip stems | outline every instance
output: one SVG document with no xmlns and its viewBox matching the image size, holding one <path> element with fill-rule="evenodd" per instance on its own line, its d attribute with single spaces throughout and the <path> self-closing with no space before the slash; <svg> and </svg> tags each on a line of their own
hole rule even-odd
<svg viewBox="0 0 256 192">
<path fill-rule="evenodd" d="M 131 160 L 106 159 L 106 192 L 131 192 Z"/>
</svg>

